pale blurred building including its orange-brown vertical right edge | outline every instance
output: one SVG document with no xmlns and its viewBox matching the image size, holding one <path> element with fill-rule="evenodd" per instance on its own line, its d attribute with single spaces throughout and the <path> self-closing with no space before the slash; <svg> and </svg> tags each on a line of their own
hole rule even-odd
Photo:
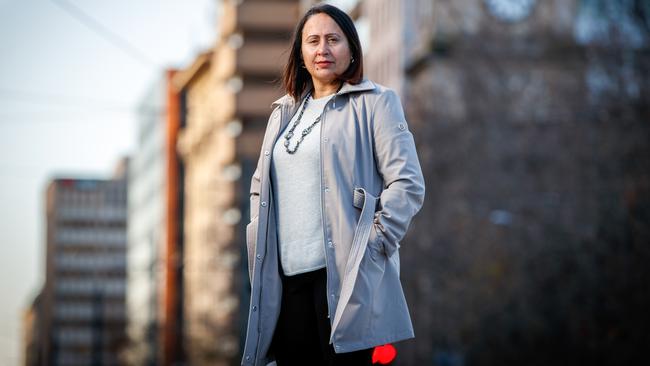
<svg viewBox="0 0 650 366">
<path fill-rule="evenodd" d="M 175 153 L 178 101 L 175 94 L 168 95 L 173 93 L 168 86 L 171 75 L 173 71 L 162 75 L 142 99 L 138 143 L 130 164 L 129 345 L 124 351 L 129 365 L 167 365 L 183 357 L 178 265 L 182 237 L 177 234 L 182 170 Z"/>
</svg>

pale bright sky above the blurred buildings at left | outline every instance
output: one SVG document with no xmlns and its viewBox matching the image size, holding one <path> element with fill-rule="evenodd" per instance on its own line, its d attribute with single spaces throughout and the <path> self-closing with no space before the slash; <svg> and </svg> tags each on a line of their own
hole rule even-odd
<svg viewBox="0 0 650 366">
<path fill-rule="evenodd" d="M 217 3 L 0 0 L 0 365 L 22 363 L 20 321 L 43 283 L 47 182 L 110 176 L 147 90 L 214 44 Z"/>
</svg>

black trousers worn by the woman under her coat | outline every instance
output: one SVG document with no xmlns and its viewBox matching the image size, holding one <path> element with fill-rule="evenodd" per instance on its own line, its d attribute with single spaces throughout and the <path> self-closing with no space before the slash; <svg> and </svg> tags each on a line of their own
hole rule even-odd
<svg viewBox="0 0 650 366">
<path fill-rule="evenodd" d="M 278 366 L 370 366 L 373 349 L 335 353 L 329 344 L 325 269 L 282 277 L 282 308 L 273 335 Z"/>
</svg>

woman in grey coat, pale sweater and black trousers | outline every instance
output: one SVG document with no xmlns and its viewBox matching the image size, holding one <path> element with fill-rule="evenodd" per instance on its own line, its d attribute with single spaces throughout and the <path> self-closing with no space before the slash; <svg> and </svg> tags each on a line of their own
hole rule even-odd
<svg viewBox="0 0 650 366">
<path fill-rule="evenodd" d="M 370 365 L 412 338 L 398 242 L 424 199 L 397 95 L 363 79 L 352 20 L 298 23 L 251 182 L 244 365 Z"/>
</svg>

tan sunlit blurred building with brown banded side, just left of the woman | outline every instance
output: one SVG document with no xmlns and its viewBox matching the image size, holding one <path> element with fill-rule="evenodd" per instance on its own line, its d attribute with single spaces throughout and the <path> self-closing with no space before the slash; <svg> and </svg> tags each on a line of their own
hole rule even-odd
<svg viewBox="0 0 650 366">
<path fill-rule="evenodd" d="M 184 344 L 192 365 L 238 364 L 249 283 L 249 184 L 298 1 L 224 1 L 214 50 L 174 77 L 186 167 Z"/>
</svg>

